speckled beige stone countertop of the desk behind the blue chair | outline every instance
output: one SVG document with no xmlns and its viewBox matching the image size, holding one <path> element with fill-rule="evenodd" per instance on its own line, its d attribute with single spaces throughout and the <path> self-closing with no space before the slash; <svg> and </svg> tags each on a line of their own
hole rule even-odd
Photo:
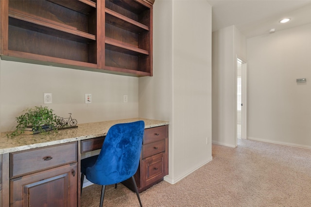
<svg viewBox="0 0 311 207">
<path fill-rule="evenodd" d="M 133 118 L 78 124 L 76 128 L 51 131 L 50 134 L 20 134 L 13 138 L 6 136 L 10 132 L 2 132 L 0 137 L 0 154 L 101 137 L 106 135 L 108 129 L 115 124 L 135 122 L 138 120 L 145 122 L 145 128 L 169 124 L 167 121 Z"/>
</svg>

